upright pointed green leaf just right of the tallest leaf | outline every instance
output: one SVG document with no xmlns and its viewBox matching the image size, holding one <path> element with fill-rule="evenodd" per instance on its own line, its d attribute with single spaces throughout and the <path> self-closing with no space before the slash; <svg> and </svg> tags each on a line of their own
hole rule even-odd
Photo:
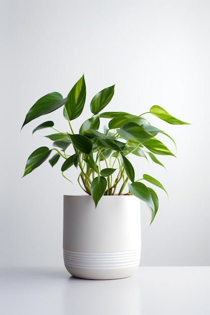
<svg viewBox="0 0 210 315">
<path fill-rule="evenodd" d="M 91 101 L 91 112 L 98 114 L 111 101 L 114 95 L 114 86 L 106 88 L 97 93 Z"/>
</svg>

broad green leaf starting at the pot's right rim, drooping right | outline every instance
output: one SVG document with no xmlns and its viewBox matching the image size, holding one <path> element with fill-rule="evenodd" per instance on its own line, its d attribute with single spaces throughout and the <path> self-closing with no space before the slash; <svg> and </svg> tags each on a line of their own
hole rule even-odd
<svg viewBox="0 0 210 315">
<path fill-rule="evenodd" d="M 152 209 L 155 208 L 150 190 L 146 185 L 143 183 L 134 182 L 132 184 L 128 184 L 128 188 L 132 195 L 145 201 Z"/>
</svg>

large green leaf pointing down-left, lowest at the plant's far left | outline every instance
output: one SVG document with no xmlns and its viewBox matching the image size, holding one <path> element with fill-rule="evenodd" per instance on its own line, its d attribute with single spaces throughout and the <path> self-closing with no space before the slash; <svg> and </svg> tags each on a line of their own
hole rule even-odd
<svg viewBox="0 0 210 315">
<path fill-rule="evenodd" d="M 33 170 L 38 168 L 45 160 L 47 160 L 48 156 L 50 155 L 52 150 L 49 150 L 46 146 L 41 146 L 36 149 L 31 155 L 29 156 L 26 162 L 26 168 L 24 175 L 31 173 Z"/>
</svg>

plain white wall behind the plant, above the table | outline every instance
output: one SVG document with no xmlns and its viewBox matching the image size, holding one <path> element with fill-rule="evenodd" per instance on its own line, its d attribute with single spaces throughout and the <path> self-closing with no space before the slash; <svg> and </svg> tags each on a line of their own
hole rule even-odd
<svg viewBox="0 0 210 315">
<path fill-rule="evenodd" d="M 177 143 L 167 171 L 134 160 L 166 187 L 157 218 L 142 203 L 142 266 L 209 265 L 210 2 L 207 0 L 2 0 L 0 264 L 61 266 L 62 195 L 81 191 L 48 162 L 21 178 L 28 156 L 50 146 L 33 128 L 63 125 L 62 112 L 26 125 L 43 95 L 65 97 L 85 73 L 87 103 L 116 84 L 108 110 L 141 114 L 157 104 L 189 126 L 151 121 Z M 58 117 L 57 115 L 60 114 Z M 149 117 L 148 117 L 149 118 Z M 174 151 L 173 145 L 170 148 Z M 141 176 L 139 175 L 139 176 Z M 76 173 L 69 174 L 76 183 Z"/>
</svg>

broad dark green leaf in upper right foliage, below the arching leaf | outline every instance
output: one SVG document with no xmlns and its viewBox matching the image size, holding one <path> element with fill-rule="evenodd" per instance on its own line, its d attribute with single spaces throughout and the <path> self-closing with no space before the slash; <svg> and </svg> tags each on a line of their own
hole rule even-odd
<svg viewBox="0 0 210 315">
<path fill-rule="evenodd" d="M 117 129 L 117 132 L 125 140 L 134 139 L 139 143 L 143 143 L 153 137 L 143 126 L 139 126 L 134 122 L 128 122 L 123 128 Z"/>
</svg>

